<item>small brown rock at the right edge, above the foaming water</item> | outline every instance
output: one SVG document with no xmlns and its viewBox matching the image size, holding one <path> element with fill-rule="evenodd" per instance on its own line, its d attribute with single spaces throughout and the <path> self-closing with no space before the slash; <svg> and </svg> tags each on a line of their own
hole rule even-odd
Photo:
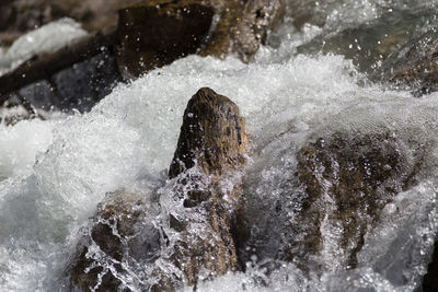
<svg viewBox="0 0 438 292">
<path fill-rule="evenodd" d="M 383 79 L 416 96 L 438 90 L 438 33 L 431 30 L 413 38 L 382 65 Z"/>
</svg>

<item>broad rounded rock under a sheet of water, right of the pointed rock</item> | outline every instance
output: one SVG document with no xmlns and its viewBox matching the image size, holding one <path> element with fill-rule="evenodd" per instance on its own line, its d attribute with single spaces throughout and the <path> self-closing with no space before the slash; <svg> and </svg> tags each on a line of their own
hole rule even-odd
<svg viewBox="0 0 438 292">
<path fill-rule="evenodd" d="M 235 226 L 241 265 L 269 272 L 288 261 L 311 275 L 354 269 L 366 236 L 383 224 L 382 210 L 427 175 L 420 130 L 416 141 L 385 126 L 330 127 L 279 145 L 272 164 L 249 171 Z"/>
</svg>

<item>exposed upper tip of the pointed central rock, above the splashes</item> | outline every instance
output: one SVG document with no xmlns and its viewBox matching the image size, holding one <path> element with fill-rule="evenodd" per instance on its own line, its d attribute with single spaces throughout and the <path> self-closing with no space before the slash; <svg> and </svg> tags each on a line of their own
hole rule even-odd
<svg viewBox="0 0 438 292">
<path fill-rule="evenodd" d="M 169 177 L 195 165 L 204 174 L 220 176 L 245 164 L 247 138 L 239 107 L 212 90 L 200 89 L 187 104 Z"/>
</svg>

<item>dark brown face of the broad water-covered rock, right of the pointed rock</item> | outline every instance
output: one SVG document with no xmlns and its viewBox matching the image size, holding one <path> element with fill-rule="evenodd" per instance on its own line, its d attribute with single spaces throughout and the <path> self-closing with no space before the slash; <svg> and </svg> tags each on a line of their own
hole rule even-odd
<svg viewBox="0 0 438 292">
<path fill-rule="evenodd" d="M 379 222 L 383 207 L 416 184 L 422 156 L 410 166 L 412 162 L 406 161 L 401 149 L 390 131 L 337 132 L 303 147 L 297 157 L 297 175 L 306 194 L 300 222 L 289 226 L 288 244 L 278 258 L 303 268 L 312 256 L 318 258 L 325 250 L 337 256 L 334 262 L 326 264 L 331 267 L 323 268 L 355 268 L 364 236 Z M 331 232 L 330 238 L 322 234 L 324 230 Z"/>
</svg>

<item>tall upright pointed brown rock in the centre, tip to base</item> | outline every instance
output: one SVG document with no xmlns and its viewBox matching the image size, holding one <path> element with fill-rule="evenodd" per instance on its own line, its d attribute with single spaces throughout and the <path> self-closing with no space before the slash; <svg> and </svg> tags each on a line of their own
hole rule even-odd
<svg viewBox="0 0 438 292">
<path fill-rule="evenodd" d="M 186 221 L 170 260 L 183 270 L 188 285 L 240 269 L 231 226 L 242 195 L 241 176 L 249 148 L 239 107 L 210 89 L 188 102 L 169 176 L 184 186 L 175 203 L 197 214 Z M 193 172 L 193 170 L 197 170 Z M 183 218 L 183 215 L 181 215 Z M 181 220 L 180 220 L 181 221 Z"/>
</svg>

